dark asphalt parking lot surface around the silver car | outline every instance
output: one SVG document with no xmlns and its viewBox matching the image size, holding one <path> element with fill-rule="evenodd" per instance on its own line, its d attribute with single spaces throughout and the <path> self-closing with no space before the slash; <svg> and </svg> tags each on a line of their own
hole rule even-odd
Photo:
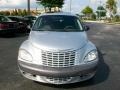
<svg viewBox="0 0 120 90">
<path fill-rule="evenodd" d="M 28 35 L 0 37 L 0 90 L 120 90 L 120 26 L 86 23 L 89 39 L 99 49 L 100 63 L 93 80 L 70 85 L 46 85 L 21 76 L 17 54 Z"/>
</svg>

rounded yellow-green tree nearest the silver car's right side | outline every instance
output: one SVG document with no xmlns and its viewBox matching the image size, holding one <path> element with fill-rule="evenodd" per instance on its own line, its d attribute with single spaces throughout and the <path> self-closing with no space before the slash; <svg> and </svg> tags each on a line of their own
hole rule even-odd
<svg viewBox="0 0 120 90">
<path fill-rule="evenodd" d="M 93 9 L 89 6 L 86 6 L 83 10 L 82 13 L 85 15 L 87 19 L 91 19 L 93 15 Z"/>
</svg>

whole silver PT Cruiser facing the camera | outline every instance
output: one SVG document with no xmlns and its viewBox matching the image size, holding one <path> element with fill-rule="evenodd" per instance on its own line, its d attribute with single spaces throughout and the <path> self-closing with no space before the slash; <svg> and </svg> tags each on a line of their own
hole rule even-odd
<svg viewBox="0 0 120 90">
<path fill-rule="evenodd" d="M 28 79 L 49 84 L 93 78 L 99 59 L 95 45 L 87 38 L 88 29 L 70 13 L 40 15 L 28 40 L 20 46 L 20 72 Z"/>
</svg>

